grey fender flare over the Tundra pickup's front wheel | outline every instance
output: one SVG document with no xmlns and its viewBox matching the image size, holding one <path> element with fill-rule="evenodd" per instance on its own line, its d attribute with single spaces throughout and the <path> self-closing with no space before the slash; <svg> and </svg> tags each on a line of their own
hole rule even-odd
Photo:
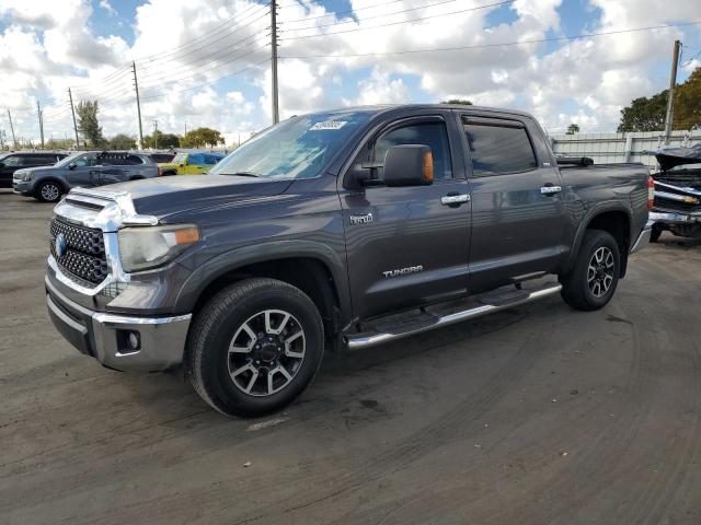
<svg viewBox="0 0 701 525">
<path fill-rule="evenodd" d="M 243 246 L 220 254 L 199 265 L 181 288 L 175 308 L 192 312 L 202 292 L 216 279 L 255 262 L 306 257 L 317 259 L 330 271 L 342 313 L 350 312 L 350 291 L 345 261 L 325 244 L 314 241 L 273 241 Z"/>
</svg>

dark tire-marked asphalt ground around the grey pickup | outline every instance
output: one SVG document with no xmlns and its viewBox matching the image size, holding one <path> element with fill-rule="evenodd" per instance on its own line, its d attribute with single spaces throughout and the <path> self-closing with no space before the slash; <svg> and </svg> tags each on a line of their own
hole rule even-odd
<svg viewBox="0 0 701 525">
<path fill-rule="evenodd" d="M 73 350 L 46 314 L 51 207 L 0 191 L 2 524 L 699 524 L 701 245 L 613 301 L 558 296 L 330 355 L 281 413 Z"/>
</svg>

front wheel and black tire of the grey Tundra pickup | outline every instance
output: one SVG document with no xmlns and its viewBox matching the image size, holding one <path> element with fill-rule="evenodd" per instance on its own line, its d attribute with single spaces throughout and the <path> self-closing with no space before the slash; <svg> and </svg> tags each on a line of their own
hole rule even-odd
<svg viewBox="0 0 701 525">
<path fill-rule="evenodd" d="M 271 312 L 269 317 L 265 312 Z M 276 329 L 285 328 L 285 331 L 275 336 L 276 342 L 267 342 L 273 337 L 273 332 L 267 331 L 267 327 L 273 327 L 273 315 L 284 317 L 283 314 L 289 317 L 285 322 L 276 320 Z M 258 331 L 261 320 L 265 332 Z M 251 331 L 244 325 L 257 332 L 254 336 L 265 336 L 263 348 L 255 346 L 261 339 L 249 336 Z M 242 350 L 246 345 L 248 353 L 230 351 L 230 347 Z M 291 353 L 301 353 L 302 358 L 288 357 L 291 345 L 297 345 Z M 186 364 L 191 382 L 205 401 L 227 416 L 254 417 L 294 401 L 313 380 L 323 352 L 321 316 L 303 292 L 275 279 L 248 279 L 217 293 L 196 314 L 187 339 Z M 286 374 L 278 365 L 285 368 Z M 251 370 L 238 372 L 249 366 Z M 281 382 L 286 382 L 284 386 L 271 390 L 274 383 Z M 244 392 L 244 387 L 250 392 Z"/>
</svg>

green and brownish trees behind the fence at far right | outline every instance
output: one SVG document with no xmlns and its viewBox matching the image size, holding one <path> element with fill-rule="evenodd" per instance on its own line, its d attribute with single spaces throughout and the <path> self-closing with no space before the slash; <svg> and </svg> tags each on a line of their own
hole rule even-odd
<svg viewBox="0 0 701 525">
<path fill-rule="evenodd" d="M 665 129 L 669 90 L 651 97 L 635 98 L 621 109 L 619 132 L 660 131 Z M 697 68 L 686 82 L 675 90 L 675 119 L 673 129 L 694 129 L 701 126 L 701 68 Z"/>
</svg>

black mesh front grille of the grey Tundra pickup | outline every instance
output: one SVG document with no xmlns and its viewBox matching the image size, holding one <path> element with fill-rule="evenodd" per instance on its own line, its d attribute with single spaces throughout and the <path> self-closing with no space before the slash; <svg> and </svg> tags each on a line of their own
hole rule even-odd
<svg viewBox="0 0 701 525">
<path fill-rule="evenodd" d="M 56 238 L 61 235 L 65 245 L 58 255 Z M 50 250 L 58 266 L 69 276 L 89 284 L 100 284 L 110 271 L 102 231 L 51 221 Z"/>
</svg>

